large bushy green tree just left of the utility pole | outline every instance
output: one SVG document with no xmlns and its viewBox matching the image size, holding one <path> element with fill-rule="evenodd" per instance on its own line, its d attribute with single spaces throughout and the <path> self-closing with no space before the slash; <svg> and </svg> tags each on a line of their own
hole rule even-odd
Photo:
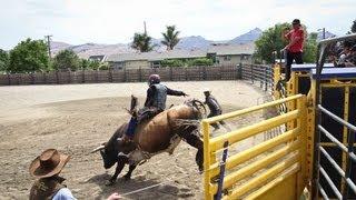
<svg viewBox="0 0 356 200">
<path fill-rule="evenodd" d="M 8 71 L 11 73 L 47 71 L 49 66 L 47 43 L 43 40 L 27 39 L 10 51 Z"/>
</svg>

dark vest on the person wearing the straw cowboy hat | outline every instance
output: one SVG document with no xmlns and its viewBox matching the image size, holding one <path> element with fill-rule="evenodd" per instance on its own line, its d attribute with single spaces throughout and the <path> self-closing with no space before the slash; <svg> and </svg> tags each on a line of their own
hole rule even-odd
<svg viewBox="0 0 356 200">
<path fill-rule="evenodd" d="M 60 179 L 60 180 L 59 180 Z M 37 180 L 30 191 L 30 200 L 50 200 L 56 193 L 66 188 L 61 182 L 63 179 L 44 178 Z"/>
</svg>

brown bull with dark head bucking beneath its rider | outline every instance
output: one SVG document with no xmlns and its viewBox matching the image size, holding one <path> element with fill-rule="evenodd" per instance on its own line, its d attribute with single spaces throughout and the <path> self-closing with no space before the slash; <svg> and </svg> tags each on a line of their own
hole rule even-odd
<svg viewBox="0 0 356 200">
<path fill-rule="evenodd" d="M 106 169 L 117 163 L 109 183 L 112 184 L 116 181 L 126 163 L 129 164 L 129 171 L 125 178 L 130 179 L 137 164 L 161 152 L 172 153 L 181 139 L 198 149 L 196 162 L 201 171 L 202 140 L 197 120 L 201 119 L 202 111 L 206 112 L 205 107 L 197 100 L 172 107 L 150 121 L 141 122 L 136 129 L 134 141 L 128 143 L 121 140 L 128 128 L 128 123 L 123 123 L 108 142 L 92 151 L 100 151 Z"/>
</svg>

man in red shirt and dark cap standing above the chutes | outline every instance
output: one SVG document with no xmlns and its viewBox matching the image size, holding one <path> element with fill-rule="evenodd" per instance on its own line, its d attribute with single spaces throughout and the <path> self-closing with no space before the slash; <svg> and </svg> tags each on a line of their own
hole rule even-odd
<svg viewBox="0 0 356 200">
<path fill-rule="evenodd" d="M 293 29 L 284 36 L 289 40 L 289 43 L 283 49 L 287 51 L 286 81 L 290 78 L 290 66 L 293 61 L 295 60 L 296 63 L 303 63 L 304 30 L 298 19 L 293 20 L 291 24 Z"/>
</svg>

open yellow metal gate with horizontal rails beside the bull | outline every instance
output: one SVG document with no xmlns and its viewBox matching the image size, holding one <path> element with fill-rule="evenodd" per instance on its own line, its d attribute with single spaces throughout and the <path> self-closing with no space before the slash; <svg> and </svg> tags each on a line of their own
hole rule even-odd
<svg viewBox="0 0 356 200">
<path fill-rule="evenodd" d="M 243 114 L 260 111 L 281 103 L 293 103 L 296 108 L 287 113 L 238 130 L 233 130 L 219 137 L 210 138 L 209 124 L 214 122 L 241 117 Z M 228 193 L 224 194 L 222 199 L 264 199 L 263 197 L 266 194 L 266 191 L 268 191 L 268 196 L 266 197 L 274 197 L 274 193 L 270 192 L 283 194 L 285 191 L 290 191 L 293 194 L 286 197 L 275 196 L 275 198 L 298 199 L 307 180 L 305 148 L 307 146 L 306 120 L 306 97 L 303 94 L 291 96 L 265 104 L 202 120 L 205 199 L 214 199 L 214 196 L 217 192 L 218 186 L 215 178 L 219 174 L 219 163 L 216 162 L 216 160 L 219 158 L 216 158 L 216 152 L 224 149 L 224 142 L 229 141 L 229 147 L 231 147 L 236 142 L 263 133 L 280 124 L 286 124 L 290 121 L 296 121 L 296 123 L 293 123 L 294 127 L 278 137 L 239 153 L 229 154 L 229 158 L 226 161 L 226 169 L 231 172 L 224 179 L 222 189 L 227 190 Z M 261 154 L 264 156 L 261 159 L 248 162 L 251 161 L 253 158 Z M 247 162 L 248 164 L 245 164 L 245 167 L 236 169 L 236 167 Z M 259 173 L 256 174 L 256 172 Z M 247 178 L 251 179 L 240 182 Z M 239 183 L 238 187 L 236 187 L 237 183 Z"/>
</svg>

